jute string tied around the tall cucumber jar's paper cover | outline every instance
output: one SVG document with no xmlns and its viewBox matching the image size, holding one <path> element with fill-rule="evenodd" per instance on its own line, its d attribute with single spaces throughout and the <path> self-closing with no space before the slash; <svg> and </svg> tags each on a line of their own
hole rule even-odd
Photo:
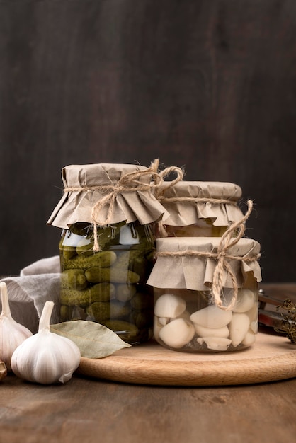
<svg viewBox="0 0 296 443">
<path fill-rule="evenodd" d="M 155 159 L 149 168 L 132 171 L 130 173 L 124 174 L 116 183 L 110 185 L 99 185 L 99 186 L 77 186 L 64 188 L 64 192 L 94 192 L 98 191 L 105 193 L 91 209 L 91 222 L 93 224 L 93 251 L 100 251 L 100 246 L 98 243 L 98 226 L 100 228 L 106 227 L 112 221 L 112 215 L 114 211 L 114 205 L 118 195 L 125 192 L 138 192 L 138 191 L 151 191 L 154 188 L 158 188 L 164 183 L 164 178 L 170 173 L 176 173 L 177 177 L 175 180 L 169 182 L 169 185 L 174 185 L 178 181 L 183 180 L 183 171 L 177 166 L 170 166 L 165 168 L 163 171 L 159 172 L 159 159 Z M 143 183 L 141 181 L 144 176 L 150 176 L 149 183 Z M 108 207 L 107 215 L 104 220 L 100 219 L 101 212 L 103 208 Z"/>
</svg>

